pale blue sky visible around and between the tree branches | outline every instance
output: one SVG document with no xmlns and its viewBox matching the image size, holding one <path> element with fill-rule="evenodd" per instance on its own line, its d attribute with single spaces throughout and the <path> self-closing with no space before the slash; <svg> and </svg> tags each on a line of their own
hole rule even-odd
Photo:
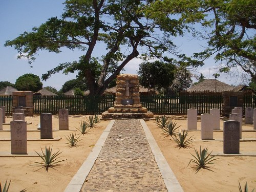
<svg viewBox="0 0 256 192">
<path fill-rule="evenodd" d="M 36 60 L 32 63 L 33 68 L 28 64 L 26 59 L 17 59 L 17 51 L 13 47 L 4 47 L 6 40 L 12 40 L 24 31 L 31 31 L 32 27 L 38 27 L 45 23 L 52 16 L 59 17 L 63 12 L 64 0 L 1 0 L 0 1 L 0 81 L 10 81 L 15 83 L 16 79 L 25 74 L 33 73 L 41 77 L 47 71 L 56 67 L 58 63 L 77 60 L 82 52 L 63 49 L 61 53 L 49 53 L 47 51 L 39 52 Z M 190 37 L 175 39 L 179 50 L 188 55 L 194 51 L 199 51 L 202 46 L 206 46 L 204 41 L 196 39 L 191 40 Z M 126 67 L 124 73 L 135 74 L 138 70 L 140 59 L 133 59 Z M 216 63 L 213 59 L 206 60 L 206 65 L 198 68 L 195 74 L 203 73 L 206 78 L 214 78 L 212 74 L 216 73 Z M 62 73 L 54 74 L 47 81 L 42 81 L 44 87 L 52 86 L 59 90 L 63 83 L 75 78 L 76 74 L 65 75 Z M 239 78 L 227 77 L 224 74 L 218 78 L 228 84 L 239 84 Z"/>
</svg>

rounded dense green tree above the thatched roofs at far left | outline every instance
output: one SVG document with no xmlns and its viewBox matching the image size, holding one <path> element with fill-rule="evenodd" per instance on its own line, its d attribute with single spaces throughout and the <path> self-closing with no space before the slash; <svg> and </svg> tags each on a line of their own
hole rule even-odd
<svg viewBox="0 0 256 192">
<path fill-rule="evenodd" d="M 37 92 L 42 89 L 42 82 L 40 81 L 38 75 L 27 73 L 16 79 L 15 88 L 18 91 Z"/>
</svg>

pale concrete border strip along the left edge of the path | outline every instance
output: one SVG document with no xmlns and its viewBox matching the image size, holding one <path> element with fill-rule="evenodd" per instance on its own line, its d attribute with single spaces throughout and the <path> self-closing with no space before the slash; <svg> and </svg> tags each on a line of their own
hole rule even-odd
<svg viewBox="0 0 256 192">
<path fill-rule="evenodd" d="M 103 131 L 97 143 L 93 147 L 92 152 L 89 154 L 86 161 L 83 162 L 81 167 L 78 169 L 77 173 L 71 179 L 70 183 L 65 189 L 65 192 L 79 192 L 81 190 L 82 185 L 86 180 L 88 174 L 90 173 L 94 165 L 94 162 L 96 161 L 114 122 L 115 120 L 111 120 L 108 126 L 106 126 L 106 129 Z"/>
</svg>

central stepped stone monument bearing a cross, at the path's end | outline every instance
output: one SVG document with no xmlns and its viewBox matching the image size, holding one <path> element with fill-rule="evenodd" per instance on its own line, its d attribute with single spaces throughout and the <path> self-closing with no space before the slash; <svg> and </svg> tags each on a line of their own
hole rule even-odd
<svg viewBox="0 0 256 192">
<path fill-rule="evenodd" d="M 114 107 L 102 113 L 102 119 L 154 118 L 154 114 L 140 103 L 138 75 L 117 75 L 116 100 Z"/>
</svg>

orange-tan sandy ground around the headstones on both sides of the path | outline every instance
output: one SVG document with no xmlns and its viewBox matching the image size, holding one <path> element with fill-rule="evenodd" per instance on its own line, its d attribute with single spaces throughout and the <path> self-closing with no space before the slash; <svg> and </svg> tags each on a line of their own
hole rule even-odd
<svg viewBox="0 0 256 192">
<path fill-rule="evenodd" d="M 186 116 L 171 116 L 177 125 L 181 125 L 179 129 L 187 129 Z M 200 118 L 198 118 L 198 128 L 200 130 Z M 6 123 L 12 118 L 7 117 Z M 40 132 L 37 132 L 39 116 L 26 117 L 28 123 L 27 132 L 29 138 L 40 138 Z M 76 115 L 69 117 L 70 131 L 54 131 L 53 137 L 62 137 L 59 141 L 28 141 L 28 153 L 34 151 L 40 152 L 40 147 L 53 147 L 53 152 L 61 151 L 60 160 L 67 159 L 61 163 L 62 166 L 57 170 L 38 168 L 29 166 L 33 161 L 39 161 L 39 157 L 0 157 L 0 181 L 2 185 L 6 179 L 11 179 L 9 191 L 20 191 L 27 188 L 27 191 L 63 191 L 73 175 L 77 172 L 80 165 L 86 160 L 93 146 L 97 142 L 101 133 L 110 121 L 101 120 L 90 133 L 81 135 L 82 141 L 77 147 L 69 147 L 67 137 L 70 133 L 80 135 L 75 127 L 79 127 L 81 120 L 86 120 L 86 116 Z M 223 119 L 221 120 L 221 130 L 223 130 Z M 155 137 L 164 157 L 169 166 L 173 169 L 177 179 L 179 180 L 184 191 L 239 191 L 239 181 L 242 186 L 247 182 L 249 191 L 254 187 L 256 189 L 256 157 L 219 157 L 216 163 L 212 165 L 215 172 L 202 169 L 197 174 L 195 171 L 187 167 L 191 154 L 195 155 L 194 147 L 199 150 L 200 146 L 207 146 L 209 152 L 223 152 L 223 142 L 193 142 L 188 148 L 179 149 L 172 137 L 162 134 L 154 120 L 146 121 L 153 136 Z M 242 129 L 253 130 L 253 125 L 243 124 Z M 10 130 L 10 125 L 3 125 L 3 130 Z M 58 130 L 58 117 L 53 116 L 53 130 Z M 189 132 L 189 136 L 200 139 L 200 132 Z M 243 138 L 256 138 L 256 132 L 243 132 Z M 10 138 L 10 132 L 1 131 L 0 139 Z M 214 139 L 223 139 L 223 132 L 214 132 Z M 0 152 L 10 152 L 10 141 L 0 141 Z M 240 152 L 256 153 L 256 141 L 240 142 Z M 191 153 L 191 154 L 190 154 Z"/>
</svg>

